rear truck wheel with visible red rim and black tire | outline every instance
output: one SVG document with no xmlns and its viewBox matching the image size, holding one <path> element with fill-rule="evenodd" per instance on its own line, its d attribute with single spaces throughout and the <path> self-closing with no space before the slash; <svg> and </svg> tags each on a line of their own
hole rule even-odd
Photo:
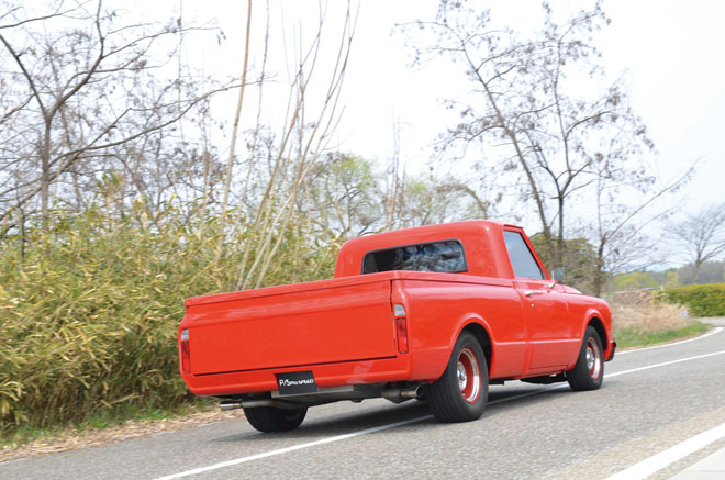
<svg viewBox="0 0 725 480">
<path fill-rule="evenodd" d="M 489 398 L 489 370 L 473 335 L 464 332 L 458 337 L 446 370 L 426 387 L 425 398 L 438 422 L 470 422 L 483 414 Z"/>
</svg>

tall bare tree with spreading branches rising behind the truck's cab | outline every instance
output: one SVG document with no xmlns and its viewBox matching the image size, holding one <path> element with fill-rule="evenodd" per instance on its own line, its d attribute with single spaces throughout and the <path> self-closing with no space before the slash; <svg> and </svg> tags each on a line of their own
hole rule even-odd
<svg viewBox="0 0 725 480">
<path fill-rule="evenodd" d="M 601 163 L 617 137 L 618 148 L 607 161 L 627 163 L 652 148 L 646 129 L 627 105 L 617 82 L 604 83 L 596 63 L 593 34 L 607 19 L 599 3 L 565 22 L 543 3 L 544 25 L 533 37 L 492 26 L 489 11 L 468 3 L 442 0 L 433 22 L 430 46 L 417 47 L 424 63 L 443 55 L 465 67 L 473 87 L 464 102 L 449 101 L 461 122 L 443 138 L 448 152 L 482 146 L 498 158 L 492 175 L 506 178 L 533 202 L 549 258 L 560 265 L 567 236 L 567 205 L 596 180 Z M 410 29 L 409 29 L 410 31 Z"/>
</svg>

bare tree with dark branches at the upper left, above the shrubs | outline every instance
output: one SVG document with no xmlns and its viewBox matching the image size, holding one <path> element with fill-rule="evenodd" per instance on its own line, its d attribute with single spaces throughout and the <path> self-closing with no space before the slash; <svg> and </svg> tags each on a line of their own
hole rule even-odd
<svg viewBox="0 0 725 480">
<path fill-rule="evenodd" d="M 40 210 L 47 234 L 53 201 L 78 204 L 111 164 L 132 172 L 134 156 L 159 152 L 161 132 L 211 92 L 161 75 L 176 20 L 123 24 L 101 0 L 33 8 L 2 4 L 0 221 Z M 143 192 L 142 178 L 129 183 Z"/>
</svg>

